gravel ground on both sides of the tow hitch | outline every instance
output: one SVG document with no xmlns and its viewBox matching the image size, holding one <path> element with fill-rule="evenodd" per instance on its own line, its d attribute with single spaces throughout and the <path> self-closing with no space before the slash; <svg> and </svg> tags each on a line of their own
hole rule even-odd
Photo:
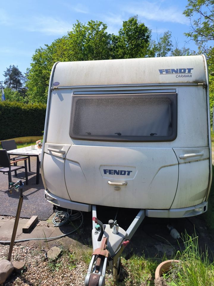
<svg viewBox="0 0 214 286">
<path fill-rule="evenodd" d="M 59 246 L 59 245 L 57 245 Z M 0 260 L 7 259 L 9 245 L 0 244 Z M 45 249 L 26 245 L 14 245 L 11 261 L 24 261 L 25 269 L 22 273 L 15 272 L 0 286 L 83 286 L 88 270 L 90 251 L 77 249 L 70 245 L 69 250 L 63 250 L 55 260 L 45 258 Z M 84 262 L 85 261 L 85 262 Z M 145 282 L 136 282 L 136 277 L 131 273 L 130 267 L 125 265 L 121 269 L 122 281 L 114 284 L 111 273 L 106 273 L 106 286 L 146 286 L 151 285 L 152 276 L 145 271 Z M 144 264 L 143 264 L 144 265 Z M 146 263 L 145 263 L 146 265 Z M 144 265 L 144 266 L 145 266 Z M 155 286 L 165 284 L 155 282 Z M 152 284 L 153 285 L 153 284 Z"/>
</svg>

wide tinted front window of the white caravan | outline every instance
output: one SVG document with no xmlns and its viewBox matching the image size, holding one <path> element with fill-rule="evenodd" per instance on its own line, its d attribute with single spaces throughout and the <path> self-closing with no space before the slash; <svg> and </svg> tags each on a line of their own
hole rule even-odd
<svg viewBox="0 0 214 286">
<path fill-rule="evenodd" d="M 177 94 L 73 96 L 72 138 L 171 141 L 176 135 Z"/>
</svg>

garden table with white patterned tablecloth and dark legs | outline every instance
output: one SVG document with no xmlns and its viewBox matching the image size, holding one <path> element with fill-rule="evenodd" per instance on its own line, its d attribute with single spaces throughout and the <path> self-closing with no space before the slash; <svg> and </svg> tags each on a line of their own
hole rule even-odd
<svg viewBox="0 0 214 286">
<path fill-rule="evenodd" d="M 40 176 L 40 161 L 42 155 L 42 148 L 38 148 L 35 145 L 35 149 L 31 149 L 31 146 L 22 147 L 14 150 L 7 151 L 8 155 L 21 155 L 21 156 L 33 156 L 37 157 L 37 171 L 36 171 L 36 184 L 39 184 L 39 176 Z"/>
</svg>

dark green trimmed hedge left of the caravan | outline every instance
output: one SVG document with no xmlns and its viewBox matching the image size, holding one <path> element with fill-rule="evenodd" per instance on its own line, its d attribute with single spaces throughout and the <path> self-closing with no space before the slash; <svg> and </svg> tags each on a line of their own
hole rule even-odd
<svg viewBox="0 0 214 286">
<path fill-rule="evenodd" d="M 0 102 L 0 140 L 40 136 L 45 126 L 46 105 Z"/>
</svg>

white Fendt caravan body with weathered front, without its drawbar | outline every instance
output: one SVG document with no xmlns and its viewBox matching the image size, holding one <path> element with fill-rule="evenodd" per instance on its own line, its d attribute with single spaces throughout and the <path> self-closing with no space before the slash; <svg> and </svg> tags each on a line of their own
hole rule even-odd
<svg viewBox="0 0 214 286">
<path fill-rule="evenodd" d="M 211 164 L 203 55 L 55 63 L 41 159 L 50 203 L 198 215 Z"/>
</svg>

